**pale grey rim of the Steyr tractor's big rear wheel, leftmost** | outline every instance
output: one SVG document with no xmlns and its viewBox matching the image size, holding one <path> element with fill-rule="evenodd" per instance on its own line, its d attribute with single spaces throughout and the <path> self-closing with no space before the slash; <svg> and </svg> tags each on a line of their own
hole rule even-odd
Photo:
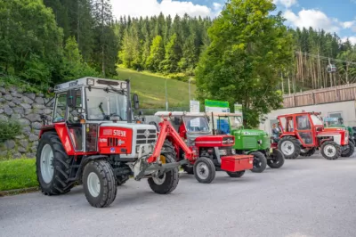
<svg viewBox="0 0 356 237">
<path fill-rule="evenodd" d="M 53 173 L 53 150 L 51 145 L 45 144 L 41 151 L 41 175 L 45 184 L 51 183 Z"/>
</svg>

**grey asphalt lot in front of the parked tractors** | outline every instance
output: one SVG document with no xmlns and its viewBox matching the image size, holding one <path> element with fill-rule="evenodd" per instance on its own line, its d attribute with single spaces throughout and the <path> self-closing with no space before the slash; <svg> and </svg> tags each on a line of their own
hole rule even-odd
<svg viewBox="0 0 356 237">
<path fill-rule="evenodd" d="M 317 155 L 212 184 L 182 174 L 169 195 L 130 180 L 109 208 L 92 208 L 81 186 L 3 197 L 0 236 L 356 236 L 355 170 L 355 155 Z"/>
</svg>

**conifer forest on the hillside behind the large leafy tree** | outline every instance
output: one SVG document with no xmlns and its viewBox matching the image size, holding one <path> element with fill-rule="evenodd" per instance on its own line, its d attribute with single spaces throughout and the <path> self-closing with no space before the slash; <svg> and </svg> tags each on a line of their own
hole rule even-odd
<svg viewBox="0 0 356 237">
<path fill-rule="evenodd" d="M 109 0 L 0 2 L 0 74 L 36 85 L 85 76 L 115 77 L 117 67 L 171 78 L 194 77 L 214 19 L 159 14 L 114 17 Z M 320 29 L 288 29 L 294 60 L 280 69 L 285 93 L 356 82 L 356 46 Z M 328 64 L 336 66 L 328 73 Z"/>
</svg>

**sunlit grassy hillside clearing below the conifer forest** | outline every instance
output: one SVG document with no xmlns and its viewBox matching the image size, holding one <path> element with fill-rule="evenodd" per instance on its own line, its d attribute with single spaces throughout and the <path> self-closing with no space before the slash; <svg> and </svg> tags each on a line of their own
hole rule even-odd
<svg viewBox="0 0 356 237">
<path fill-rule="evenodd" d="M 118 79 L 131 80 L 132 91 L 139 95 L 142 108 L 166 107 L 166 80 L 169 107 L 189 106 L 188 83 L 131 69 L 118 69 L 117 74 Z M 191 99 L 194 98 L 195 89 L 196 86 L 190 84 Z"/>
</svg>

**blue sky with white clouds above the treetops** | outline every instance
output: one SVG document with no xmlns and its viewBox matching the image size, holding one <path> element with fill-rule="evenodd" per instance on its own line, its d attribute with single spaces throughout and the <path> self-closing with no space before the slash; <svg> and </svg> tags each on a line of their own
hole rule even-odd
<svg viewBox="0 0 356 237">
<path fill-rule="evenodd" d="M 290 27 L 312 26 L 325 29 L 356 44 L 356 0 L 273 0 L 277 10 L 284 12 L 286 25 Z M 115 16 L 180 14 L 218 15 L 224 0 L 111 0 Z"/>
</svg>

